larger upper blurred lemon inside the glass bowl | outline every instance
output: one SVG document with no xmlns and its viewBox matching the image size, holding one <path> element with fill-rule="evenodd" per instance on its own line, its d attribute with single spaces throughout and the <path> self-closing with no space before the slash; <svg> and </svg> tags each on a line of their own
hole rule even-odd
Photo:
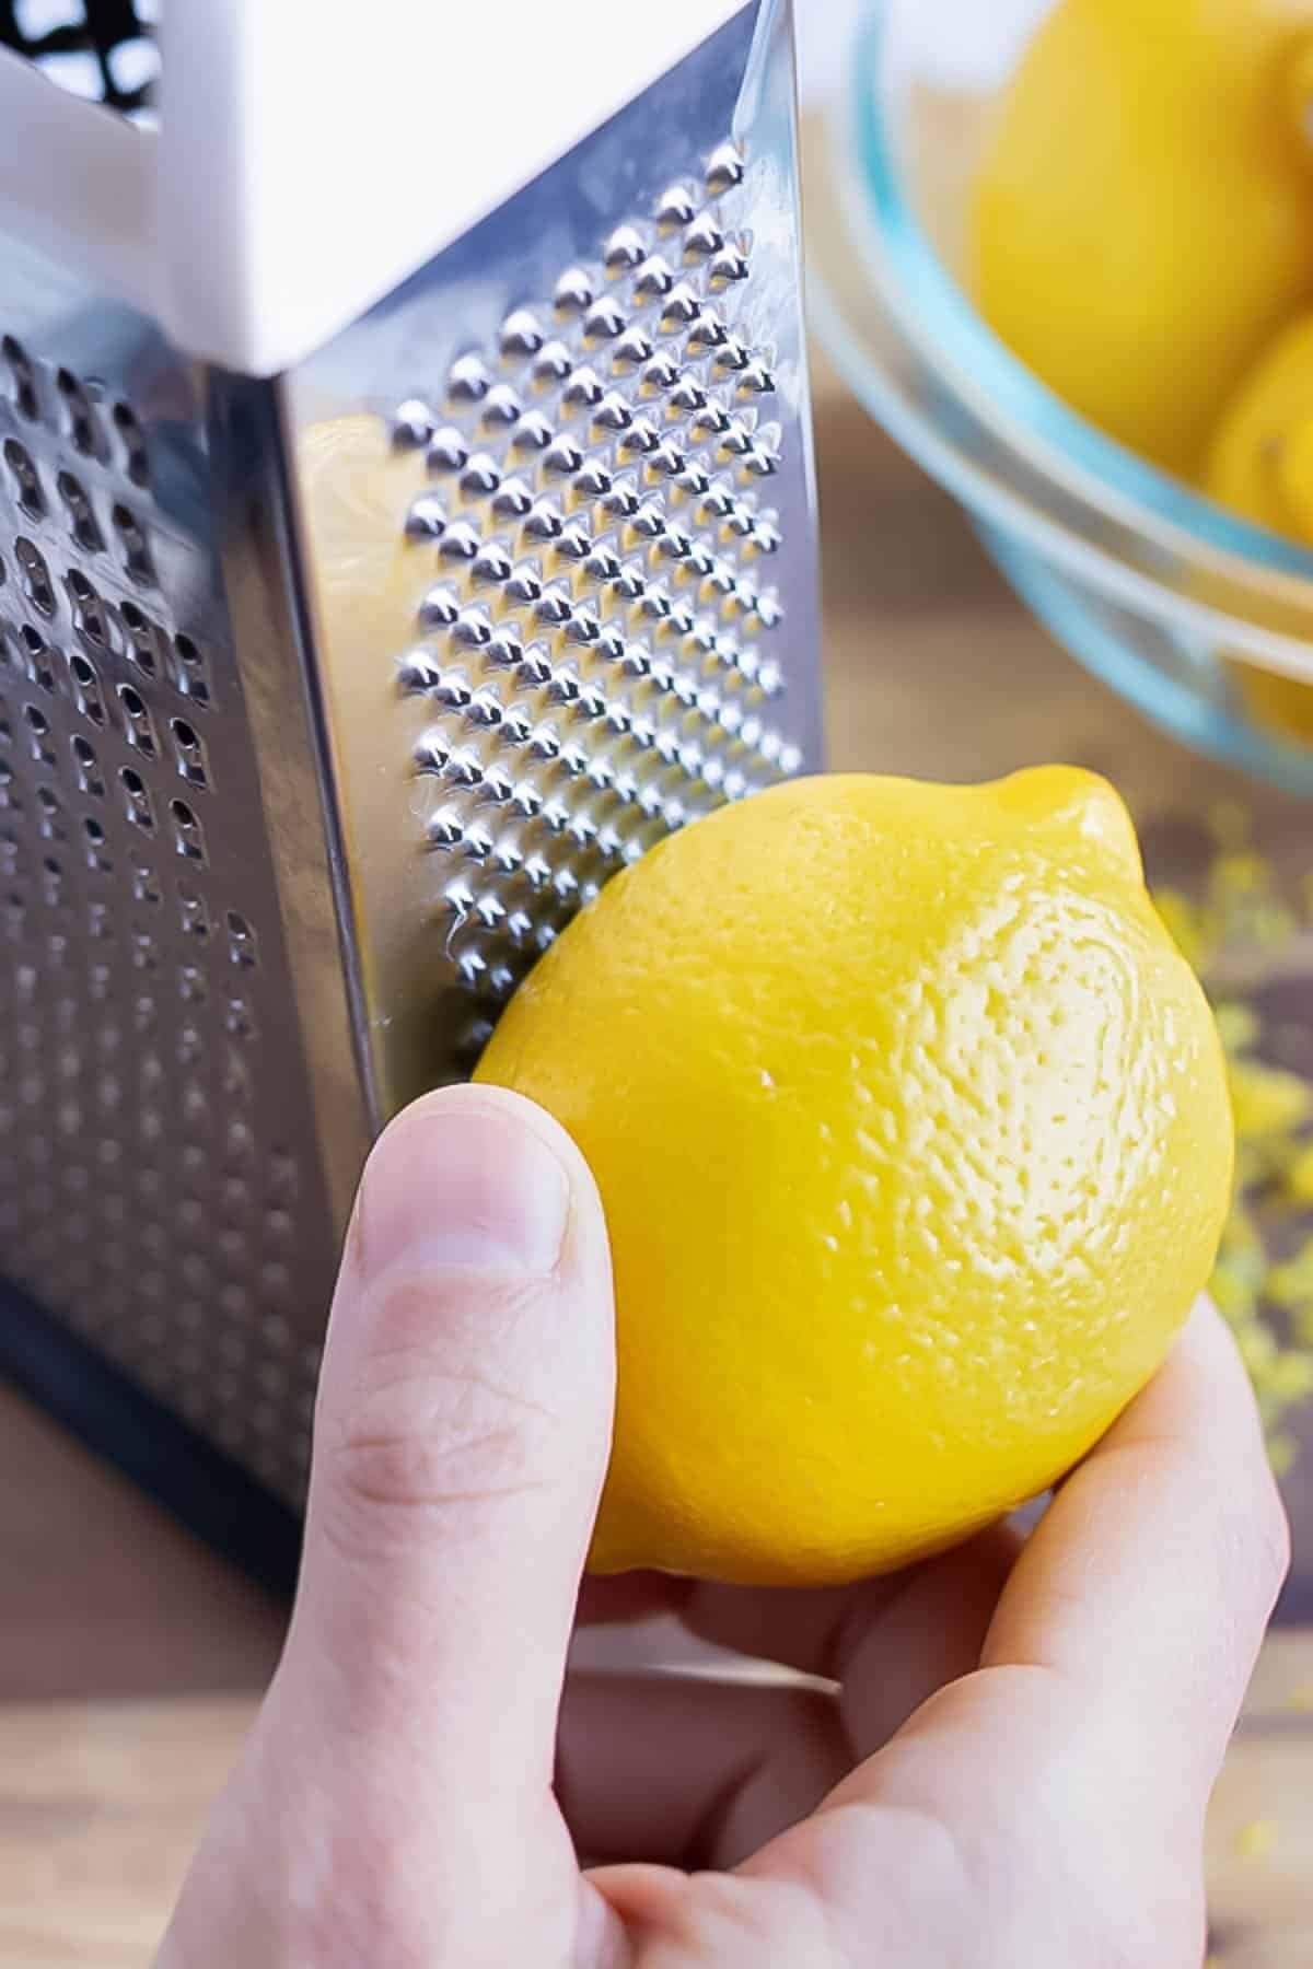
<svg viewBox="0 0 1313 1969">
<path fill-rule="evenodd" d="M 1311 0 L 1059 0 L 974 197 L 984 319 L 1085 417 L 1195 475 L 1313 295 Z"/>
</svg>

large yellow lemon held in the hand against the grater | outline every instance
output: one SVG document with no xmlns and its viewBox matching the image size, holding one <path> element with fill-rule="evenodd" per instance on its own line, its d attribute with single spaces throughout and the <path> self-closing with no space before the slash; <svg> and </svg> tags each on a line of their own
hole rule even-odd
<svg viewBox="0 0 1313 1969">
<path fill-rule="evenodd" d="M 571 923 L 478 1077 L 606 1205 L 598 1571 L 843 1581 L 969 1534 L 1146 1382 L 1226 1215 L 1209 1008 L 1118 797 L 1061 768 L 697 821 Z"/>
</svg>

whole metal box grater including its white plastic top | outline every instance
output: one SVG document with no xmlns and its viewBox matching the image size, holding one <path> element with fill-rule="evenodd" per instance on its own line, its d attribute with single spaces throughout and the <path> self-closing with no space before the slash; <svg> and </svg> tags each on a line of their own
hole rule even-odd
<svg viewBox="0 0 1313 1969">
<path fill-rule="evenodd" d="M 817 752 L 789 10 L 451 12 L 0 8 L 0 1353 L 281 1575 L 372 1132 Z"/>
</svg>

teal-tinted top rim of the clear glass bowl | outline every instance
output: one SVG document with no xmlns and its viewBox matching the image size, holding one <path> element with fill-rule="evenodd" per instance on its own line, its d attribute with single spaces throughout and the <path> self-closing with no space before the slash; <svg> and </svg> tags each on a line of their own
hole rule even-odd
<svg viewBox="0 0 1313 1969">
<path fill-rule="evenodd" d="M 902 187 L 886 118 L 880 108 L 886 24 L 880 0 L 868 0 L 856 32 L 852 65 L 852 134 L 856 161 L 904 299 L 915 313 L 917 335 L 937 345 L 955 364 L 969 364 L 976 386 L 1016 425 L 1039 437 L 1067 463 L 1152 520 L 1185 534 L 1201 547 L 1256 565 L 1274 575 L 1313 583 L 1313 551 L 1238 520 L 1183 480 L 1159 471 L 1134 451 L 1081 417 L 1016 356 L 980 319 L 969 295 L 947 270 Z"/>
</svg>

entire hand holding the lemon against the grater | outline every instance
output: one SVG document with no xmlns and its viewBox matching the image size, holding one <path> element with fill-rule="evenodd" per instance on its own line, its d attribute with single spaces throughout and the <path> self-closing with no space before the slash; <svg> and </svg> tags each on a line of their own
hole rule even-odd
<svg viewBox="0 0 1313 1969">
<path fill-rule="evenodd" d="M 1199 1969 L 1287 1561 L 1217 1315 L 1026 1544 L 591 1585 L 823 1685 L 577 1678 L 557 1748 L 612 1376 L 577 1150 L 494 1089 L 419 1103 L 346 1242 L 283 1660 L 157 1969 Z"/>
</svg>

